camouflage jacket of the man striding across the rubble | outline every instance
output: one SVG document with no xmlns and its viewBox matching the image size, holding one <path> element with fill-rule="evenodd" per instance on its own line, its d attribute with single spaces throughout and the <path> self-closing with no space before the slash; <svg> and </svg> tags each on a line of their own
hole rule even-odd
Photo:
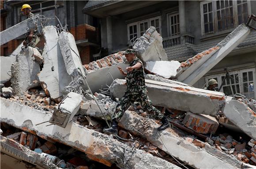
<svg viewBox="0 0 256 169">
<path fill-rule="evenodd" d="M 132 60 L 130 66 L 134 66 L 137 63 L 141 63 L 141 65 L 143 65 L 142 61 L 136 57 L 134 60 Z M 130 72 L 127 72 L 126 84 L 126 92 L 128 93 L 139 93 L 143 91 L 147 92 L 143 66 L 139 69 L 134 69 Z"/>
</svg>

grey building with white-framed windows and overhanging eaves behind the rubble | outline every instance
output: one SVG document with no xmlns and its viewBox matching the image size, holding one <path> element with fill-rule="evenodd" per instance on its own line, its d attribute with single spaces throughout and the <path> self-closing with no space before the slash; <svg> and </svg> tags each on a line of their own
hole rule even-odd
<svg viewBox="0 0 256 169">
<path fill-rule="evenodd" d="M 225 11 L 226 10 L 226 11 Z M 88 1 L 83 12 L 100 19 L 101 44 L 113 53 L 131 46 L 130 40 L 143 35 L 149 26 L 162 35 L 168 60 L 184 61 L 218 44 L 234 28 L 256 13 L 250 1 Z M 136 38 L 135 38 L 136 37 Z M 203 88 L 216 79 L 226 95 L 241 93 L 256 98 L 256 32 L 252 31 L 237 48 L 198 80 Z M 242 58 L 242 59 L 241 59 Z"/>
</svg>

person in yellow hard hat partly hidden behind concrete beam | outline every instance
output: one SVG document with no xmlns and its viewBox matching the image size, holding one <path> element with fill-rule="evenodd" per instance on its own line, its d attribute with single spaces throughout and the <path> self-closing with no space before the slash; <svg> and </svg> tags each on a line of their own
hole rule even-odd
<svg viewBox="0 0 256 169">
<path fill-rule="evenodd" d="M 21 11 L 23 11 L 23 14 L 27 16 L 27 19 L 34 16 L 34 14 L 31 13 L 31 7 L 29 4 L 23 4 Z M 37 34 L 38 34 L 37 27 L 27 32 L 25 34 L 25 40 L 23 41 L 23 46 L 25 46 L 25 48 L 27 48 L 28 46 L 31 46 L 34 48 Z"/>
</svg>

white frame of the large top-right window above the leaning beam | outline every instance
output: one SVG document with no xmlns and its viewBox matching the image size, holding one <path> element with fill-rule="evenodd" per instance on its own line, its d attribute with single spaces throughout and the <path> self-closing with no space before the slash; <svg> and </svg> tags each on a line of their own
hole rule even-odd
<svg viewBox="0 0 256 169">
<path fill-rule="evenodd" d="M 212 8 L 213 8 L 213 31 L 210 33 L 204 33 L 204 21 L 203 21 L 203 4 L 208 4 L 212 2 Z M 201 34 L 202 36 L 209 35 L 209 34 L 215 34 L 217 32 L 225 32 L 225 31 L 232 31 L 234 28 L 238 26 L 238 12 L 237 12 L 237 0 L 232 1 L 233 6 L 233 28 L 226 29 L 226 30 L 218 30 L 218 19 L 217 19 L 217 1 L 216 0 L 205 0 L 200 2 L 200 20 L 201 20 Z M 251 2 L 250 0 L 247 0 L 247 10 L 248 14 L 251 13 Z"/>
</svg>

